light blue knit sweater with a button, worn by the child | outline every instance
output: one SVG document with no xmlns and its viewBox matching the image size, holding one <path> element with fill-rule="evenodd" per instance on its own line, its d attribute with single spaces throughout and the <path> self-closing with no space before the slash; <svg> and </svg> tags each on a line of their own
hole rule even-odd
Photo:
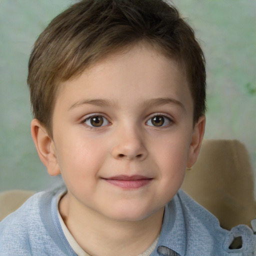
<svg viewBox="0 0 256 256">
<path fill-rule="evenodd" d="M 56 198 L 61 192 L 63 188 L 36 193 L 0 222 L 0 256 L 75 256 L 57 217 Z M 237 236 L 242 238 L 242 247 L 228 249 Z M 151 255 L 252 256 L 255 247 L 256 236 L 249 227 L 222 229 L 211 213 L 179 190 L 165 206 L 160 237 Z"/>
</svg>

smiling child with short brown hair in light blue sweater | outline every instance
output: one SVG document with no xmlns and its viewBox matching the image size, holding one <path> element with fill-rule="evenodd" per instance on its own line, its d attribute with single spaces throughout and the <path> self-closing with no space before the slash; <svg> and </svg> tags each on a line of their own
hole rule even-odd
<svg viewBox="0 0 256 256">
<path fill-rule="evenodd" d="M 35 42 L 31 134 L 65 186 L 0 223 L 0 255 L 253 255 L 179 190 L 205 125 L 204 57 L 162 0 L 81 0 Z M 238 237 L 242 246 L 233 249 Z"/>
</svg>

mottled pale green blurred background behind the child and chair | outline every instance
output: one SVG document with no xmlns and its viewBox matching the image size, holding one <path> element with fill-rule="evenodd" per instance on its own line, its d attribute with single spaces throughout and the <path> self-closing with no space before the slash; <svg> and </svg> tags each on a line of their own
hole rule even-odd
<svg viewBox="0 0 256 256">
<path fill-rule="evenodd" d="M 26 85 L 32 45 L 71 0 L 0 0 L 0 191 L 47 188 L 30 137 Z M 207 62 L 205 138 L 242 141 L 256 166 L 256 1 L 173 0 L 194 28 Z"/>
</svg>

